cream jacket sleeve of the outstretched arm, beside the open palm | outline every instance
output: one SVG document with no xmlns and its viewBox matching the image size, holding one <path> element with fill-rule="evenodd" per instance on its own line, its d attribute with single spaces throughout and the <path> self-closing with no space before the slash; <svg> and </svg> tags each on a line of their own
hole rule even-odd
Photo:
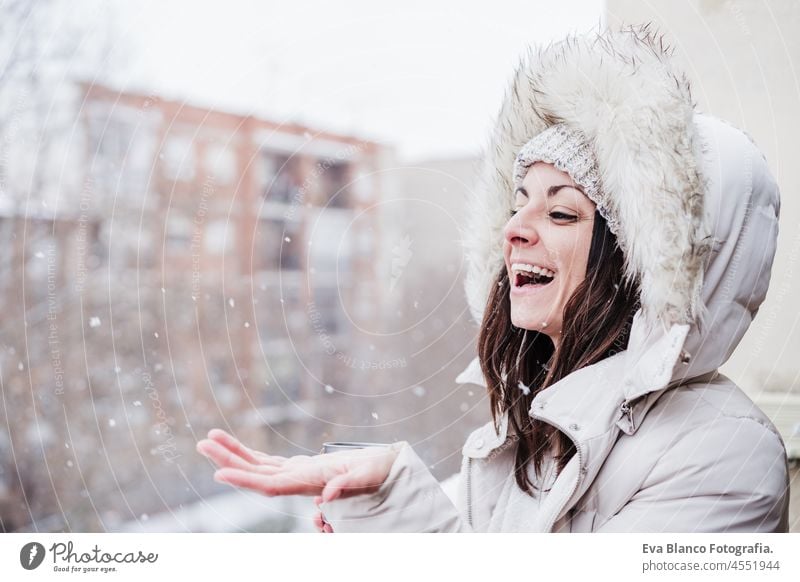
<svg viewBox="0 0 800 582">
<path fill-rule="evenodd" d="M 334 533 L 472 531 L 411 445 L 396 445 L 397 458 L 376 492 L 320 504 Z"/>
</svg>

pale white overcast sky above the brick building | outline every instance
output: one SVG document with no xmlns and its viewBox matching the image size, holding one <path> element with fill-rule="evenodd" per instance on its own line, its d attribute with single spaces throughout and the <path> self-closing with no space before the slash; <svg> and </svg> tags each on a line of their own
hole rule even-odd
<svg viewBox="0 0 800 582">
<path fill-rule="evenodd" d="M 595 28 L 603 11 L 602 0 L 112 6 L 117 86 L 355 133 L 411 159 L 476 152 L 525 47 Z"/>
</svg>

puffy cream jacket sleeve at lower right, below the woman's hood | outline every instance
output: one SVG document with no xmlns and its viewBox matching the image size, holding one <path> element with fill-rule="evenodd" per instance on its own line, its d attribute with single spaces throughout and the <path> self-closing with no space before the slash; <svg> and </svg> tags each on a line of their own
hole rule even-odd
<svg viewBox="0 0 800 582">
<path fill-rule="evenodd" d="M 750 418 L 684 434 L 600 532 L 785 532 L 789 473 L 780 436 Z"/>
</svg>

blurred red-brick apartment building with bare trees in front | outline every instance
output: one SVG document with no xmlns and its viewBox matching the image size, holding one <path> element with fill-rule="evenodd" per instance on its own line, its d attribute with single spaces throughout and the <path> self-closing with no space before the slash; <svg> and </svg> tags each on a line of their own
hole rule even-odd
<svg viewBox="0 0 800 582">
<path fill-rule="evenodd" d="M 0 529 L 114 529 L 213 493 L 194 453 L 212 426 L 312 450 L 386 300 L 383 146 L 77 95 L 58 204 L 0 200 Z"/>
</svg>

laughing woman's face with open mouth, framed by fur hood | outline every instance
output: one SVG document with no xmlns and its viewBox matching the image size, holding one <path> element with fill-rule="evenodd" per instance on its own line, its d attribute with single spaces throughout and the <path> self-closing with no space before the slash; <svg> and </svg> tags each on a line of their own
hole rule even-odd
<svg viewBox="0 0 800 582">
<path fill-rule="evenodd" d="M 562 314 L 586 277 L 595 204 L 569 174 L 537 162 L 514 193 L 503 256 L 511 282 L 511 322 L 558 346 Z"/>
</svg>

